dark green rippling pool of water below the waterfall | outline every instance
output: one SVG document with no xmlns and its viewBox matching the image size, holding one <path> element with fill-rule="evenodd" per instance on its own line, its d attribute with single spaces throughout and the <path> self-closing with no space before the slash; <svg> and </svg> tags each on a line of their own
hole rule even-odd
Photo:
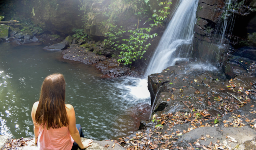
<svg viewBox="0 0 256 150">
<path fill-rule="evenodd" d="M 31 108 L 44 78 L 55 72 L 64 74 L 66 103 L 74 106 L 76 123 L 86 138 L 128 136 L 148 118 L 148 93 L 139 93 L 140 98 L 130 94 L 141 79 L 100 78 L 92 66 L 67 62 L 61 52 L 46 52 L 43 47 L 0 44 L 0 134 L 34 136 Z"/>
</svg>

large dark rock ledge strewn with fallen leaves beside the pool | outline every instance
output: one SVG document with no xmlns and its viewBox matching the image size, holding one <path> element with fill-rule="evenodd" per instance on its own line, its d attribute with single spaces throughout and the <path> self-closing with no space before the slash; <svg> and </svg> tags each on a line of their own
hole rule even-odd
<svg viewBox="0 0 256 150">
<path fill-rule="evenodd" d="M 241 64 L 234 68 L 245 68 L 232 80 L 214 66 L 186 62 L 148 76 L 151 119 L 120 143 L 129 147 L 136 141 L 151 149 L 255 148 L 256 62 L 236 60 Z"/>
</svg>

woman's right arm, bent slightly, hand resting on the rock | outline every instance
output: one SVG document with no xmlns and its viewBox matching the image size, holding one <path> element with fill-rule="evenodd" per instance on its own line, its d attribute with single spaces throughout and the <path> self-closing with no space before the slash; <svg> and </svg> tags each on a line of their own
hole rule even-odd
<svg viewBox="0 0 256 150">
<path fill-rule="evenodd" d="M 70 135 L 74 139 L 74 141 L 78 144 L 78 146 L 82 149 L 87 148 L 92 145 L 93 140 L 86 140 L 86 142 L 83 144 L 80 138 L 80 134 L 76 128 L 76 114 L 74 107 L 70 104 L 66 104 L 67 108 L 67 114 L 68 114 L 68 130 L 70 132 Z"/>
</svg>

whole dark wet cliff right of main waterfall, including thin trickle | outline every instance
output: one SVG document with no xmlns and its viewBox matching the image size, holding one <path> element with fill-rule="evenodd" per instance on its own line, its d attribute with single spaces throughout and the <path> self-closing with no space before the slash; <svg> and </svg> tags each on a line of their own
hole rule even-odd
<svg viewBox="0 0 256 150">
<path fill-rule="evenodd" d="M 222 67 L 228 60 L 227 53 L 235 51 L 230 49 L 254 46 L 247 38 L 255 32 L 255 2 L 199 0 L 192 56 Z"/>
</svg>

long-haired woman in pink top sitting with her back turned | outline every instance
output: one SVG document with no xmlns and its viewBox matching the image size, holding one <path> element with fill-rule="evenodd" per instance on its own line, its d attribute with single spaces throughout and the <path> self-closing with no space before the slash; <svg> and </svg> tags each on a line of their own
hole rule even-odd
<svg viewBox="0 0 256 150">
<path fill-rule="evenodd" d="M 65 104 L 65 87 L 62 74 L 47 76 L 42 84 L 39 102 L 33 105 L 31 116 L 35 144 L 38 143 L 40 150 L 71 150 L 76 144 L 84 149 L 92 145 L 92 140 L 81 141 L 74 108 Z"/>
</svg>

